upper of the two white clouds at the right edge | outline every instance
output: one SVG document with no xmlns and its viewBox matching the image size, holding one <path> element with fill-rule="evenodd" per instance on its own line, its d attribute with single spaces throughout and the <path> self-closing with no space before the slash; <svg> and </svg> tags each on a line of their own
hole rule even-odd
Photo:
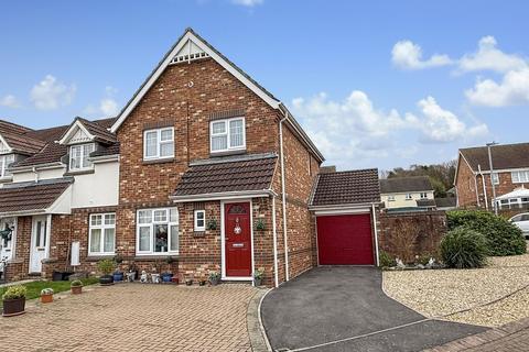
<svg viewBox="0 0 529 352">
<path fill-rule="evenodd" d="M 466 54 L 458 61 L 461 72 L 494 70 L 507 73 L 528 67 L 526 59 L 518 55 L 505 54 L 496 47 L 494 36 L 484 36 L 479 40 L 477 52 Z"/>
</svg>

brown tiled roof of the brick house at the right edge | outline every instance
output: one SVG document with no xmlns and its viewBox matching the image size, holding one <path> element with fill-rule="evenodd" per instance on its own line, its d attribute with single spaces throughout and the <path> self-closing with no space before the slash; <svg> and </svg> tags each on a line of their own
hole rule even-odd
<svg viewBox="0 0 529 352">
<path fill-rule="evenodd" d="M 489 170 L 488 148 L 486 146 L 461 148 L 460 153 L 468 162 L 471 168 Z M 529 167 L 529 143 L 498 144 L 490 147 L 494 169 Z"/>
</svg>

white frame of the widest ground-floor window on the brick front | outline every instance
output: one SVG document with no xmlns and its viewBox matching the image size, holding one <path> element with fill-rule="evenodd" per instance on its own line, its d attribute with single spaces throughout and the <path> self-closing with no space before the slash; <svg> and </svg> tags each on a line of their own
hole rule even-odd
<svg viewBox="0 0 529 352">
<path fill-rule="evenodd" d="M 171 209 L 176 211 L 176 221 L 171 221 Z M 149 223 L 140 223 L 140 212 L 141 211 L 151 211 L 151 222 Z M 155 212 L 156 211 L 165 211 L 165 221 L 155 220 Z M 166 252 L 154 252 L 154 226 L 156 224 L 166 224 L 168 226 L 168 251 Z M 177 233 L 177 242 L 179 248 L 176 251 L 171 251 L 171 231 L 172 227 L 176 227 Z M 149 243 L 150 249 L 149 251 L 140 251 L 140 228 L 150 228 L 150 237 Z M 169 207 L 169 208 L 144 208 L 138 209 L 136 212 L 136 254 L 137 255 L 177 255 L 180 252 L 180 215 L 179 209 L 176 207 Z"/>
</svg>

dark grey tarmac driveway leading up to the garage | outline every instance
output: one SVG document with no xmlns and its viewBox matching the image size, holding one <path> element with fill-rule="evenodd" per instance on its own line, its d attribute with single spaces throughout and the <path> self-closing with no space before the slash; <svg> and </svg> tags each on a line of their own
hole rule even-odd
<svg viewBox="0 0 529 352">
<path fill-rule="evenodd" d="M 386 296 L 374 267 L 321 266 L 270 292 L 261 317 L 276 351 L 421 351 L 482 327 L 430 320 Z"/>
</svg>

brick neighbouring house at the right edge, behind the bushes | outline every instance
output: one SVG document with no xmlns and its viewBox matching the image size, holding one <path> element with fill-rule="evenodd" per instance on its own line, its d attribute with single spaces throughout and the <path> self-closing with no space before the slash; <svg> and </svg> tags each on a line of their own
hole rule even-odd
<svg viewBox="0 0 529 352">
<path fill-rule="evenodd" d="M 486 146 L 461 148 L 455 173 L 458 207 L 493 208 L 493 187 L 496 197 L 529 186 L 529 143 L 499 144 L 490 147 L 493 177 Z M 501 198 L 500 205 L 519 206 L 527 197 Z"/>
</svg>

